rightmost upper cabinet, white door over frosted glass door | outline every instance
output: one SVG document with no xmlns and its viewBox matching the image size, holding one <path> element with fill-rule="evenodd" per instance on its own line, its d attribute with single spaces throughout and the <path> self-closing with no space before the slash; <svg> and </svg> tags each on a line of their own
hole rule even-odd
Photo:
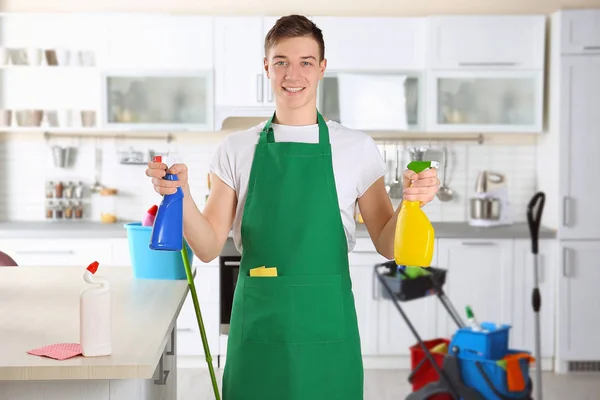
<svg viewBox="0 0 600 400">
<path fill-rule="evenodd" d="M 430 20 L 427 130 L 542 132 L 544 16 Z"/>
</svg>

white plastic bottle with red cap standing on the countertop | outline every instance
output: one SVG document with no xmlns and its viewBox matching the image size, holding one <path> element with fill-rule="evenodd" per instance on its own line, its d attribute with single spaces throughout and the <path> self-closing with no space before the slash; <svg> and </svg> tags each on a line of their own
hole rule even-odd
<svg viewBox="0 0 600 400">
<path fill-rule="evenodd" d="M 84 357 L 108 356 L 112 353 L 111 289 L 107 280 L 98 278 L 98 262 L 83 273 L 90 287 L 79 296 L 79 341 Z"/>
</svg>

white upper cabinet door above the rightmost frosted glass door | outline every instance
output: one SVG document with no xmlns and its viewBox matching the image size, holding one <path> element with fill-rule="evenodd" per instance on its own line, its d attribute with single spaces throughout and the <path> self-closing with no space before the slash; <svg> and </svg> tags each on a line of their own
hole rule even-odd
<svg viewBox="0 0 600 400">
<path fill-rule="evenodd" d="M 544 68 L 544 15 L 437 16 L 429 23 L 431 69 Z"/>
</svg>

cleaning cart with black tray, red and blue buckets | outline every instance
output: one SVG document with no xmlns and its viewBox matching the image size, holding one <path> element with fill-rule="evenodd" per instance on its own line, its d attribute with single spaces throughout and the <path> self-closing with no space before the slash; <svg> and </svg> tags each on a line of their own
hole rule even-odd
<svg viewBox="0 0 600 400">
<path fill-rule="evenodd" d="M 408 378 L 417 390 L 406 400 L 531 400 L 531 357 L 527 352 L 509 349 L 510 326 L 482 323 L 480 330 L 467 327 L 444 293 L 447 270 L 423 270 L 424 274 L 414 277 L 395 261 L 375 265 L 375 274 L 384 287 L 383 297 L 393 301 L 417 339 L 411 348 L 413 370 Z M 430 295 L 438 297 L 456 323 L 458 329 L 452 340 L 425 342 L 402 309 L 402 302 Z M 431 351 L 433 346 L 443 344 L 447 345 L 447 353 Z M 428 383 L 422 382 L 424 375 Z M 419 384 L 417 378 L 421 380 Z"/>
</svg>

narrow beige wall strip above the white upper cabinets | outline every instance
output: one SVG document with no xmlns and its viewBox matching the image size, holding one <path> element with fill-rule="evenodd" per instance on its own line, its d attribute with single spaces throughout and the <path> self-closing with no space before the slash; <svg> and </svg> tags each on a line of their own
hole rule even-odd
<svg viewBox="0 0 600 400">
<path fill-rule="evenodd" d="M 4 0 L 5 11 L 164 11 L 205 14 L 429 15 L 544 13 L 600 5 L 600 0 Z"/>
</svg>

